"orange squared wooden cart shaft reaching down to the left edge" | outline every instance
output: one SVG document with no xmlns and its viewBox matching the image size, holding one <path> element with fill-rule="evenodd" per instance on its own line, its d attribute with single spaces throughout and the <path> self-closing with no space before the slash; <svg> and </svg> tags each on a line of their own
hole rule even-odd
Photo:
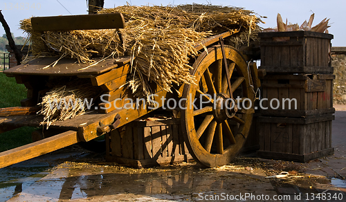
<svg viewBox="0 0 346 202">
<path fill-rule="evenodd" d="M 0 168 L 35 158 L 57 149 L 80 142 L 77 131 L 66 131 L 62 134 L 39 140 L 15 149 L 0 153 Z"/>
</svg>

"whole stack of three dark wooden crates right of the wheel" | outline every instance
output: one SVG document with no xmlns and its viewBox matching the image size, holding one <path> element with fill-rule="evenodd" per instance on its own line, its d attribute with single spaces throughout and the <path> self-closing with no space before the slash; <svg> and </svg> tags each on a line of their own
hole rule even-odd
<svg viewBox="0 0 346 202">
<path fill-rule="evenodd" d="M 268 100 L 262 100 L 258 118 L 257 155 L 306 162 L 333 154 L 335 76 L 329 55 L 333 35 L 295 31 L 260 33 L 259 37 L 260 68 L 267 73 L 262 99 Z"/>
</svg>

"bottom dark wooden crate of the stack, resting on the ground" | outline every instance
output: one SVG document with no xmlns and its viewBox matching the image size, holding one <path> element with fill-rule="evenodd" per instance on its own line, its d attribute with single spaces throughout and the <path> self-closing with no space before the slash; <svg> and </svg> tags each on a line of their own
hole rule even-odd
<svg viewBox="0 0 346 202">
<path fill-rule="evenodd" d="M 311 118 L 258 118 L 260 150 L 257 156 L 307 162 L 334 154 L 331 147 L 333 115 Z"/>
</svg>

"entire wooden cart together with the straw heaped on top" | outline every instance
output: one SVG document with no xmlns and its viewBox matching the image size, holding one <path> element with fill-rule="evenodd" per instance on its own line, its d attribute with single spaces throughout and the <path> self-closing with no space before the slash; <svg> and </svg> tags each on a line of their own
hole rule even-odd
<svg viewBox="0 0 346 202">
<path fill-rule="evenodd" d="M 189 7 L 181 6 L 181 8 L 186 10 Z M 120 7 L 118 10 L 122 11 L 122 14 L 118 12 L 37 17 L 31 19 L 31 24 L 23 21 L 22 27 L 28 26 L 27 30 L 31 31 L 33 48 L 36 48 L 35 56 L 38 58 L 5 72 L 8 76 L 16 77 L 18 83 L 23 83 L 28 88 L 28 98 L 23 100 L 22 106 L 35 106 L 53 86 L 73 83 L 75 80 L 93 86 L 95 88 L 93 91 L 98 91 L 96 93 L 98 98 L 89 113 L 50 123 L 50 129 L 59 129 L 62 133 L 1 153 L 0 167 L 81 141 L 88 142 L 122 127 L 153 109 L 136 109 L 136 103 L 130 103 L 133 107 L 117 109 L 114 101 L 118 99 L 116 105 L 124 106 L 129 104 L 125 103 L 127 102 L 125 98 L 136 100 L 138 95 L 148 98 L 152 93 L 155 93 L 153 101 L 158 103 L 156 107 L 165 104 L 162 98 L 166 100 L 174 98 L 176 102 L 181 100 L 181 103 L 185 104 L 185 108 L 178 109 L 181 113 L 181 126 L 188 149 L 196 160 L 208 167 L 228 163 L 242 147 L 251 126 L 253 107 L 250 107 L 250 102 L 246 102 L 246 98 L 251 102 L 255 99 L 252 85 L 253 80 L 255 83 L 257 81 L 256 77 L 250 76 L 250 68 L 242 54 L 224 44 L 223 39 L 226 39 L 225 43 L 231 44 L 232 41 L 235 42 L 232 36 L 235 33 L 243 34 L 243 39 L 248 36 L 244 35 L 244 30 L 240 32 L 239 24 L 237 29 L 232 27 L 232 30 L 220 26 L 220 22 L 226 19 L 227 13 L 222 12 L 226 8 L 215 7 L 216 11 L 210 12 L 209 16 L 197 15 L 195 12 L 192 12 L 194 15 L 189 15 L 191 11 L 184 11 L 184 15 L 174 15 L 174 12 L 181 8 L 153 7 L 152 9 L 157 11 L 156 17 L 167 11 L 170 12 L 170 17 L 166 17 L 163 22 L 154 20 L 148 30 L 141 27 L 143 24 L 138 23 L 144 23 L 143 19 L 153 17 L 149 15 L 149 7 L 144 7 L 142 10 L 139 7 Z M 196 6 L 195 9 L 197 8 L 206 10 L 204 6 Z M 134 20 L 134 15 L 129 16 L 129 10 L 141 13 L 143 17 Z M 237 18 L 241 16 L 239 13 L 234 11 L 230 15 Z M 248 17 L 250 21 L 246 31 L 253 30 L 259 21 L 250 14 L 251 12 L 247 12 L 243 16 L 244 19 Z M 123 15 L 127 21 L 126 26 Z M 186 21 L 191 23 L 191 19 L 196 16 L 193 29 L 181 28 L 181 24 Z M 201 16 L 208 19 L 207 24 Z M 220 21 L 216 20 L 217 16 Z M 185 21 L 181 21 L 181 18 L 185 18 Z M 165 26 L 160 23 L 165 23 Z M 215 26 L 210 26 L 212 24 Z M 232 21 L 230 24 L 235 26 L 236 22 Z M 209 27 L 206 27 L 207 25 Z M 218 26 L 224 30 L 216 30 Z M 110 33 L 106 28 L 115 30 L 111 30 Z M 102 29 L 104 33 L 91 29 Z M 214 35 L 206 38 L 211 33 L 206 33 L 203 29 L 214 31 Z M 84 34 L 82 39 L 78 38 L 81 37 L 81 33 Z M 100 44 L 101 36 L 113 37 L 114 40 L 108 40 L 105 45 Z M 129 37 L 135 39 L 130 40 Z M 69 41 L 71 38 L 75 41 Z M 237 39 L 241 38 L 242 35 L 237 36 Z M 93 43 L 86 43 L 86 39 L 92 39 Z M 71 42 L 80 46 L 73 47 Z M 78 50 L 81 51 L 76 52 Z M 57 53 L 60 53 L 60 56 L 42 57 Z M 93 55 L 103 56 L 103 59 L 96 59 L 92 57 Z M 115 59 L 116 56 L 118 58 Z M 76 62 L 75 58 L 80 63 Z M 91 60 L 94 60 L 93 63 L 90 63 Z M 256 68 L 251 67 L 253 75 L 256 75 Z M 128 86 L 130 88 L 127 88 Z M 101 100 L 101 94 L 109 96 Z M 211 98 L 208 94 L 212 95 Z M 229 99 L 238 96 L 240 102 L 244 102 L 244 106 L 250 108 L 228 109 Z M 194 98 L 201 98 L 204 102 L 188 107 L 188 103 Z M 41 115 L 1 118 L 0 131 L 27 125 L 39 126 L 42 120 Z"/>
</svg>

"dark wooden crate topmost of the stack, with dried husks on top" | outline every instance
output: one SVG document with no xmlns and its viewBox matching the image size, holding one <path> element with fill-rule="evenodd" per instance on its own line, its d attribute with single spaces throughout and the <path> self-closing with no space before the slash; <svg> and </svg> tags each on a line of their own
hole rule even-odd
<svg viewBox="0 0 346 202">
<path fill-rule="evenodd" d="M 259 33 L 266 73 L 333 73 L 329 50 L 333 35 L 307 31 Z M 277 42 L 280 38 L 288 39 Z"/>
</svg>

